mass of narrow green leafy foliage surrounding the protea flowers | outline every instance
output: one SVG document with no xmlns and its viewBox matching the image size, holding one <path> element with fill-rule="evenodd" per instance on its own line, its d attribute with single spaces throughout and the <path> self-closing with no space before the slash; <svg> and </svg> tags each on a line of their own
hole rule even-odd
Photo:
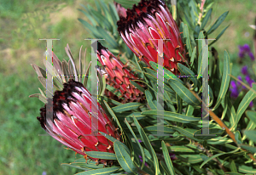
<svg viewBox="0 0 256 175">
<path fill-rule="evenodd" d="M 212 14 L 212 3 L 206 3 L 206 11 L 199 19 L 199 8 L 196 1 L 178 1 L 177 8 L 179 18 L 185 21 L 181 24 L 183 31 L 183 41 L 186 43 L 189 62 L 191 64 L 185 66 L 178 64 L 178 69 L 183 75 L 201 75 L 202 54 L 201 41 L 195 39 L 204 39 L 207 35 L 215 31 L 222 24 L 228 12 L 222 14 L 218 20 L 205 30 L 207 22 Z M 118 3 L 124 7 L 131 7 L 131 1 L 121 1 Z M 99 38 L 104 36 L 108 43 L 106 45 L 113 53 L 129 53 L 125 50 L 116 32 L 115 21 L 118 20 L 117 14 L 112 5 L 108 7 L 102 1 L 96 2 L 97 10 L 84 7 L 81 10 L 90 20 L 91 25 L 85 20 L 79 21 L 86 26 L 91 35 Z M 181 13 L 183 11 L 183 13 Z M 107 19 L 107 20 L 105 20 Z M 214 42 L 224 34 L 224 28 Z M 205 31 L 205 32 L 204 32 Z M 214 43 L 212 42 L 212 43 Z M 211 44 L 212 44 L 211 43 Z M 210 44 L 210 45 L 211 45 Z M 217 51 L 209 55 L 209 62 L 212 64 L 209 67 L 209 96 L 212 100 L 213 112 L 220 121 L 214 119 L 210 121 L 209 130 L 213 136 L 195 136 L 201 133 L 201 100 L 195 96 L 201 96 L 201 79 L 199 76 L 178 77 L 174 76 L 171 71 L 164 69 L 164 111 L 157 110 L 157 68 L 158 65 L 150 62 L 151 68 L 144 67 L 142 63 L 138 63 L 137 67 L 143 73 L 143 81 L 148 89 L 140 89 L 145 93 L 146 103 L 129 103 L 119 104 L 114 102 L 110 107 L 108 102 L 113 100 L 102 97 L 102 104 L 108 111 L 113 121 L 118 125 L 119 130 L 123 133 L 123 141 L 110 137 L 106 133 L 102 133 L 106 138 L 113 142 L 115 154 L 108 153 L 88 153 L 96 158 L 112 159 L 119 162 L 119 166 L 103 167 L 96 166 L 94 162 L 84 162 L 82 158 L 79 161 L 74 161 L 70 164 L 63 164 L 68 167 L 77 167 L 84 170 L 79 174 L 122 174 L 125 172 L 139 174 L 147 172 L 148 174 L 241 174 L 255 173 L 255 167 L 248 153 L 255 153 L 255 112 L 247 110 L 249 103 L 256 97 L 256 88 L 249 90 L 241 100 L 237 102 L 237 106 L 230 101 L 230 86 L 231 67 L 230 56 L 225 51 L 224 56 L 216 57 Z M 127 56 L 128 57 L 128 56 Z M 223 62 L 223 69 L 221 69 Z M 70 64 L 69 64 L 70 65 Z M 69 67 L 68 64 L 64 66 Z M 41 72 L 40 80 L 45 82 L 43 76 L 44 71 L 37 68 L 37 73 Z M 68 69 L 66 69 L 68 70 Z M 75 69 L 74 69 L 75 70 Z M 73 70 L 73 71 L 74 71 Z M 74 72 L 73 72 L 74 73 Z M 104 79 L 99 79 L 100 89 L 103 92 L 105 88 Z M 58 82 L 55 82 L 57 86 Z M 135 82 L 132 82 L 135 84 Z M 136 85 L 136 84 L 135 84 Z M 56 88 L 58 88 L 56 86 Z M 107 87 L 112 92 L 115 89 Z M 102 94 L 102 93 L 101 93 Z M 38 98 L 44 99 L 44 94 L 35 95 Z M 104 100 L 103 100 L 104 99 Z M 43 101 L 43 100 L 42 100 Z M 163 112 L 163 113 L 158 113 Z M 158 117 L 164 119 L 162 122 L 165 136 L 158 136 Z M 125 121 L 125 123 L 123 122 Z M 230 138 L 225 126 L 230 128 L 234 133 L 235 140 Z M 172 134 L 172 137 L 170 137 Z M 142 141 L 139 141 L 142 140 Z M 244 149 L 244 150 L 242 150 Z M 174 161 L 171 160 L 169 153 L 175 154 Z M 140 161 L 139 155 L 142 156 Z M 147 162 L 147 166 L 144 164 Z M 220 168 L 224 167 L 224 168 Z M 224 172 L 224 169 L 227 171 Z"/>
</svg>

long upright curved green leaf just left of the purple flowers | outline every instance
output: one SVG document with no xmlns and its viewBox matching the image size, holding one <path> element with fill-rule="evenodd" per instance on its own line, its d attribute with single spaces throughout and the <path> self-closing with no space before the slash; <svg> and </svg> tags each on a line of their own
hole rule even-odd
<svg viewBox="0 0 256 175">
<path fill-rule="evenodd" d="M 231 70 L 230 70 L 230 56 L 227 53 L 227 51 L 224 51 L 224 70 L 223 70 L 223 75 L 222 75 L 222 81 L 220 85 L 220 90 L 218 93 L 218 99 L 217 102 L 213 108 L 213 110 L 216 110 L 218 108 L 218 105 L 221 103 L 222 99 L 224 99 L 229 85 L 230 85 L 230 75 L 231 75 Z"/>
</svg>

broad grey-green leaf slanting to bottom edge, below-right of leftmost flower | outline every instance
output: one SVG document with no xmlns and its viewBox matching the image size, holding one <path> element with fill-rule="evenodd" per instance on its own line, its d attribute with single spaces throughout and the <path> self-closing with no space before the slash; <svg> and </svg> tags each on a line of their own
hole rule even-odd
<svg viewBox="0 0 256 175">
<path fill-rule="evenodd" d="M 131 161 L 131 156 L 127 154 L 125 148 L 119 142 L 113 143 L 113 150 L 119 161 L 120 166 L 128 173 L 136 173 L 137 167 L 134 165 L 133 161 Z"/>
</svg>

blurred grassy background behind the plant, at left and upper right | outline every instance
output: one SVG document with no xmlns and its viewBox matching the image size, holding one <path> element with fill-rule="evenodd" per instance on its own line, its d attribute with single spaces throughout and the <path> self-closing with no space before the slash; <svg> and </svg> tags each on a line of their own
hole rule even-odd
<svg viewBox="0 0 256 175">
<path fill-rule="evenodd" d="M 112 1 L 105 0 L 106 3 Z M 220 14 L 230 11 L 224 23 L 209 38 L 218 35 L 225 26 L 230 27 L 212 46 L 223 57 L 224 49 L 233 62 L 232 74 L 241 74 L 238 45 L 245 43 L 253 48 L 253 29 L 256 6 L 254 0 L 216 0 L 212 8 L 213 24 Z M 68 59 L 67 43 L 74 59 L 79 59 L 79 48 L 88 48 L 90 37 L 78 18 L 87 20 L 78 8 L 95 7 L 94 0 L 1 0 L 0 1 L 0 174 L 73 174 L 72 167 L 61 166 L 80 158 L 73 150 L 65 150 L 59 142 L 44 134 L 37 116 L 43 103 L 29 99 L 32 93 L 44 89 L 30 64 L 44 68 L 46 42 L 38 38 L 58 38 L 53 50 L 59 59 Z M 209 25 L 209 24 L 208 24 Z M 247 59 L 249 61 L 249 59 Z M 244 62 L 250 65 L 250 62 Z"/>
</svg>

